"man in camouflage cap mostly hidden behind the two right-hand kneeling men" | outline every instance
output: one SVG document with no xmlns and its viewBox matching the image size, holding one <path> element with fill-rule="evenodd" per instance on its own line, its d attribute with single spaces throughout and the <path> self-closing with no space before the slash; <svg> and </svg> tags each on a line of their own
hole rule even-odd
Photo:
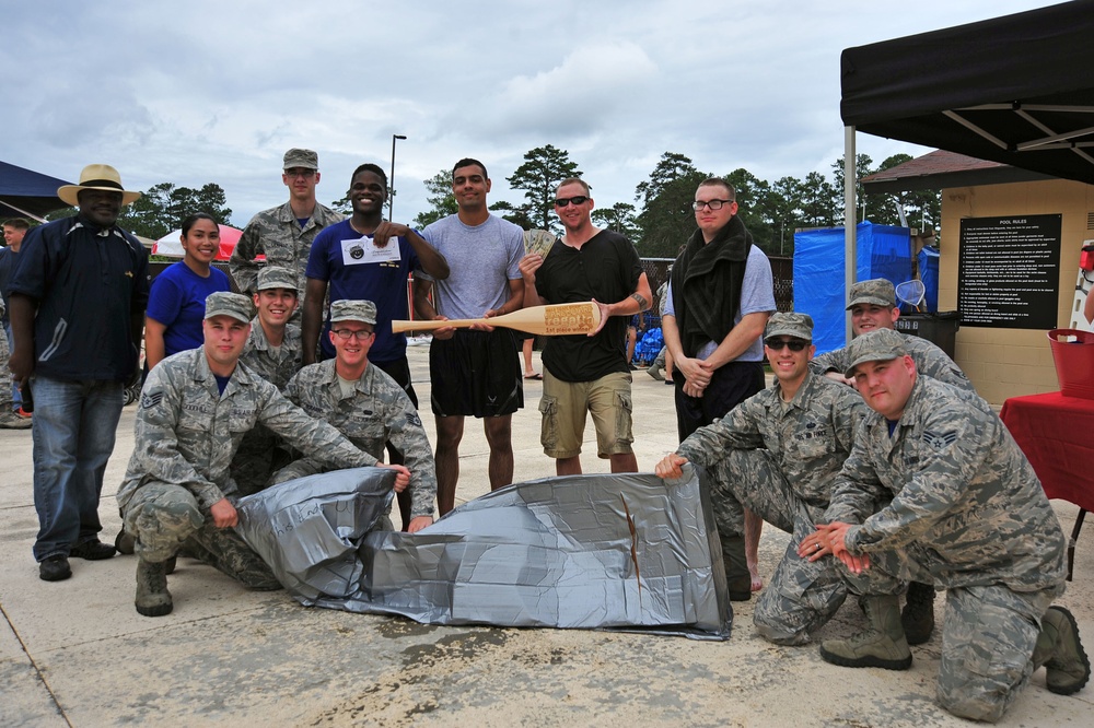
<svg viewBox="0 0 1094 728">
<path fill-rule="evenodd" d="M 847 310 L 851 312 L 851 333 L 856 337 L 880 329 L 896 329 L 900 308 L 896 305 L 896 289 L 884 278 L 859 281 L 851 285 Z M 901 334 L 908 354 L 916 362 L 916 369 L 939 381 L 956 387 L 976 397 L 976 389 L 961 367 L 936 344 L 912 334 Z M 854 385 L 843 375 L 848 368 L 848 349 L 837 349 L 813 360 L 811 367 L 829 379 Z M 931 638 L 934 631 L 934 587 L 927 584 L 908 585 L 907 602 L 900 615 L 908 644 L 919 645 Z"/>
</svg>

